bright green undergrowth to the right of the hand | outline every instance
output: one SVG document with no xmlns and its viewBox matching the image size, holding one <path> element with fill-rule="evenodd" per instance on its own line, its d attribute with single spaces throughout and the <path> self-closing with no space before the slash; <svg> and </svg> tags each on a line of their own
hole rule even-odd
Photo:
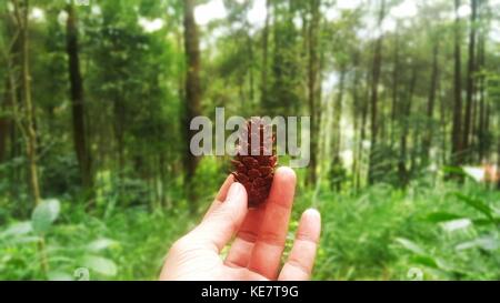
<svg viewBox="0 0 500 303">
<path fill-rule="evenodd" d="M 356 196 L 320 196 L 324 223 L 316 279 L 408 280 L 417 270 L 424 280 L 498 280 L 500 225 L 477 220 L 489 218 L 486 209 L 498 212 L 499 194 L 472 184 L 454 200 L 454 190 L 379 185 Z M 481 211 L 469 204 L 479 195 Z"/>
</svg>

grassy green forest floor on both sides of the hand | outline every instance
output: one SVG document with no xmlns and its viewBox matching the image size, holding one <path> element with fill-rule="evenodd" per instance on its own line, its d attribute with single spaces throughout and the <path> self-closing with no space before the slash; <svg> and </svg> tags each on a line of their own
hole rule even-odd
<svg viewBox="0 0 500 303">
<path fill-rule="evenodd" d="M 298 191 L 288 249 L 312 199 Z M 498 191 L 421 180 L 316 200 L 323 231 L 313 280 L 500 280 Z M 154 280 L 171 243 L 198 221 L 186 208 L 92 215 L 61 204 L 44 235 L 48 274 L 28 222 L 12 221 L 0 229 L 0 280 Z"/>
</svg>

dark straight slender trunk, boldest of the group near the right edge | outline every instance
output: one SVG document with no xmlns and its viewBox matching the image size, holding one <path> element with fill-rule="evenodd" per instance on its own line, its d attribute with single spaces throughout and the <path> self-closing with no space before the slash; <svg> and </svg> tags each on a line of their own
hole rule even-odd
<svg viewBox="0 0 500 303">
<path fill-rule="evenodd" d="M 460 18 L 458 10 L 460 0 L 454 0 L 454 108 L 453 108 L 453 130 L 451 143 L 451 158 L 453 165 L 462 164 L 462 84 L 461 84 L 461 51 L 460 51 Z"/>
</svg>

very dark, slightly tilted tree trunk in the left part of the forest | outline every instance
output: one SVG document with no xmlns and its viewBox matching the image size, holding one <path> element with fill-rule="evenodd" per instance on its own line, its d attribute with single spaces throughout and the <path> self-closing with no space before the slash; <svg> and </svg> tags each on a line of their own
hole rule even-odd
<svg viewBox="0 0 500 303">
<path fill-rule="evenodd" d="M 83 98 L 83 83 L 80 73 L 78 21 L 72 3 L 67 7 L 67 53 L 69 62 L 69 79 L 71 85 L 71 103 L 73 120 L 73 143 L 80 168 L 81 185 L 86 191 L 92 188 L 92 170 L 90 151 L 87 143 L 86 109 Z"/>
</svg>

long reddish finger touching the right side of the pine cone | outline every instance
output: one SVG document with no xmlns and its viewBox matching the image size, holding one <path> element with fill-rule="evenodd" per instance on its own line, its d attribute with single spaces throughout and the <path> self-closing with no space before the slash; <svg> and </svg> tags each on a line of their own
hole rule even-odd
<svg viewBox="0 0 500 303">
<path fill-rule="evenodd" d="M 268 279 L 276 279 L 288 233 L 288 223 L 296 191 L 292 169 L 276 171 L 264 218 L 253 246 L 248 269 Z"/>
</svg>

